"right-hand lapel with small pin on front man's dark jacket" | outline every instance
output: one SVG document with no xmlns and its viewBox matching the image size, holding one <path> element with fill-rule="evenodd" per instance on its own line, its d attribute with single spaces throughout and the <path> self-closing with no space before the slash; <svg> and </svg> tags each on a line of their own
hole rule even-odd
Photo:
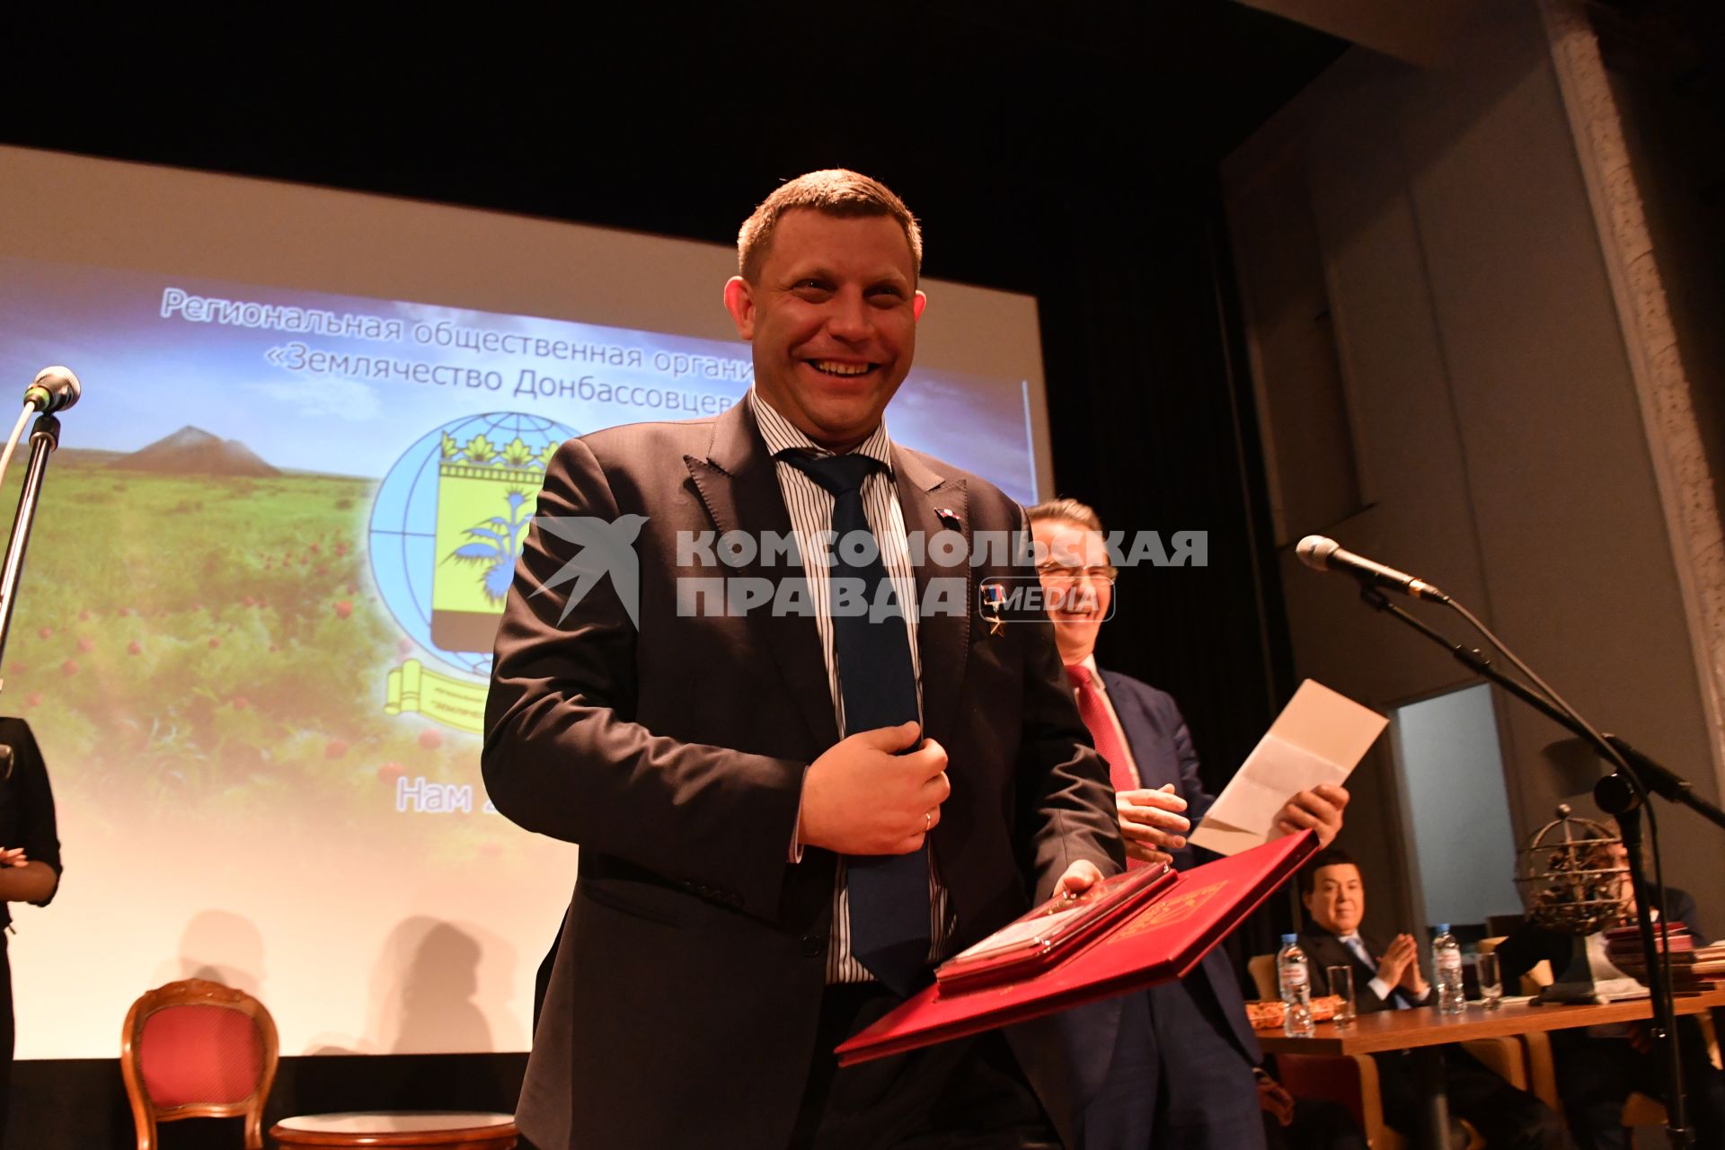
<svg viewBox="0 0 1725 1150">
<path fill-rule="evenodd" d="M 904 512 L 904 529 L 911 538 L 921 538 L 921 562 L 916 564 L 918 607 L 930 595 L 930 579 L 963 579 L 964 602 L 942 602 L 932 616 L 921 616 L 916 624 L 916 655 L 923 669 L 923 731 L 937 741 L 949 743 L 969 653 L 969 507 L 964 483 L 949 481 L 933 471 L 921 457 L 894 445 L 892 472 L 899 488 L 899 507 Z M 944 521 L 942 512 L 952 519 Z M 945 567 L 933 560 L 926 547 L 940 531 L 959 531 L 964 536 L 964 562 Z"/>
</svg>

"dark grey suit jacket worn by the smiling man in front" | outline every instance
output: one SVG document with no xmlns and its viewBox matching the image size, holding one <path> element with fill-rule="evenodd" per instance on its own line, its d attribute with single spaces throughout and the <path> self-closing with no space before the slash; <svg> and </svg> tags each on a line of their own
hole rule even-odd
<svg viewBox="0 0 1725 1150">
<path fill-rule="evenodd" d="M 1023 528 L 985 481 L 904 448 L 907 531 L 937 509 L 966 536 Z M 785 1145 L 807 1079 L 835 857 L 787 862 L 802 774 L 837 741 L 812 617 L 680 614 L 680 531 L 790 533 L 747 405 L 718 419 L 612 428 L 566 443 L 540 516 L 645 516 L 640 624 L 602 579 L 559 622 L 576 550 L 535 529 L 497 634 L 485 783 L 521 826 L 581 864 L 518 1121 L 542 1150 Z M 688 559 L 688 555 L 683 555 Z M 1028 567 L 918 569 L 976 583 Z M 1088 745 L 1047 624 L 990 633 L 971 610 L 921 619 L 925 729 L 952 797 L 932 836 L 966 945 L 1052 891 L 1075 859 L 1123 864 L 1107 771 Z M 1056 1119 L 1064 1074 L 1014 1043 Z M 825 1057 L 825 1055 L 821 1055 Z"/>
</svg>

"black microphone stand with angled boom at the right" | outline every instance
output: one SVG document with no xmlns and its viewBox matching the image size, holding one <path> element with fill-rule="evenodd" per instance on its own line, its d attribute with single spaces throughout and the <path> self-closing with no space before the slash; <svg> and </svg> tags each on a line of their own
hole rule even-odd
<svg viewBox="0 0 1725 1150">
<path fill-rule="evenodd" d="M 1492 660 L 1478 648 L 1456 643 L 1435 628 L 1428 626 L 1425 621 L 1408 614 L 1392 603 L 1368 578 L 1359 579 L 1359 598 L 1377 610 L 1387 612 L 1401 622 L 1406 622 L 1420 634 L 1446 648 L 1459 664 L 1490 679 L 1559 726 L 1568 728 L 1590 743 L 1601 757 L 1606 759 L 1606 762 L 1616 764 L 1616 771 L 1594 784 L 1594 802 L 1599 803 L 1601 810 L 1616 819 L 1618 829 L 1623 834 L 1623 848 L 1628 852 L 1630 888 L 1635 891 L 1635 924 L 1640 934 L 1642 955 L 1647 964 L 1647 995 L 1653 1000 L 1653 1038 L 1659 1050 L 1659 1076 L 1665 1079 L 1665 1129 L 1673 1147 L 1690 1147 L 1694 1134 L 1689 1129 L 1689 1119 L 1684 1105 L 1682 1053 L 1677 1040 L 1670 967 L 1666 966 L 1670 952 L 1658 945 L 1653 926 L 1653 898 L 1658 898 L 1658 907 L 1663 914 L 1665 884 L 1647 881 L 1646 864 L 1640 857 L 1640 819 L 1642 807 L 1647 803 L 1647 779 L 1651 779 L 1653 793 L 1658 793 L 1670 802 L 1684 803 L 1722 828 L 1725 828 L 1725 810 L 1720 810 L 1706 798 L 1696 795 L 1687 779 L 1659 766 L 1623 740 L 1613 734 L 1601 736 L 1594 733 L 1592 728 L 1575 716 L 1554 707 L 1544 695 L 1539 695 L 1537 691 L 1528 690 L 1527 684 L 1511 679 L 1492 666 Z M 1654 841 L 1654 852 L 1658 852 L 1656 829 L 1651 838 Z M 1649 895 L 1653 898 L 1649 898 Z"/>
</svg>

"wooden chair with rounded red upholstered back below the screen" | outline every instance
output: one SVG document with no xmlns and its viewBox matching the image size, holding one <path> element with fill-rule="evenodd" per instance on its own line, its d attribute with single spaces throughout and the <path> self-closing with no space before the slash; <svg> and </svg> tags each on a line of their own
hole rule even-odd
<svg viewBox="0 0 1725 1150">
<path fill-rule="evenodd" d="M 157 1122 L 242 1116 L 247 1150 L 262 1150 L 276 1055 L 274 1019 L 242 990 L 186 979 L 145 991 L 119 1043 L 138 1150 L 155 1150 Z"/>
</svg>

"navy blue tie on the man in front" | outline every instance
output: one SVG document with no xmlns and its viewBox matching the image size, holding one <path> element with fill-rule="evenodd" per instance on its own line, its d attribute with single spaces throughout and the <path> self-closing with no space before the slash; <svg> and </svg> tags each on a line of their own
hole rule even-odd
<svg viewBox="0 0 1725 1150">
<path fill-rule="evenodd" d="M 862 512 L 862 481 L 880 462 L 868 455 L 787 453 L 783 459 L 833 497 L 828 602 L 845 734 L 914 721 L 916 667 L 904 605 L 894 595 L 880 541 Z M 890 610 L 881 610 L 888 605 Z M 847 855 L 845 864 L 850 953 L 881 984 L 909 995 L 928 964 L 928 843 L 925 840 L 907 855 Z"/>
</svg>

